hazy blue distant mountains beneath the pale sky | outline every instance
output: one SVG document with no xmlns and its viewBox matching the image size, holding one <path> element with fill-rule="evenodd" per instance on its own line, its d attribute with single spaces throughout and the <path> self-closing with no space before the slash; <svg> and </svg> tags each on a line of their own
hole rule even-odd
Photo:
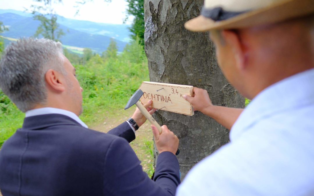
<svg viewBox="0 0 314 196">
<path fill-rule="evenodd" d="M 9 28 L 9 31 L 5 31 L 2 35 L 11 38 L 33 36 L 39 25 L 39 21 L 33 20 L 30 13 L 16 10 L 0 9 L 0 21 Z M 106 50 L 111 37 L 116 39 L 118 51 L 122 51 L 127 44 L 125 41 L 130 39 L 128 36 L 128 25 L 124 24 L 94 23 L 66 19 L 61 16 L 59 16 L 57 22 L 65 32 L 65 35 L 60 39 L 62 44 L 82 48 L 87 47 L 98 53 Z M 121 39 L 125 41 L 121 41 Z"/>
</svg>

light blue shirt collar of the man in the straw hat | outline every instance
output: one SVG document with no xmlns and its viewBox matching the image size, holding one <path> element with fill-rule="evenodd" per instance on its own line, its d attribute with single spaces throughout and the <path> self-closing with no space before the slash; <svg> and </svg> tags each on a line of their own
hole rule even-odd
<svg viewBox="0 0 314 196">
<path fill-rule="evenodd" d="M 230 130 L 230 140 L 239 137 L 260 119 L 287 109 L 314 104 L 314 69 L 285 78 L 261 91 Z"/>
</svg>

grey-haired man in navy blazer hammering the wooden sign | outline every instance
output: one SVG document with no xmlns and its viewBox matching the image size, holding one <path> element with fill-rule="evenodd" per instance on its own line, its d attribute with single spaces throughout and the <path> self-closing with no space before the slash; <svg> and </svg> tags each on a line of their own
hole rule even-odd
<svg viewBox="0 0 314 196">
<path fill-rule="evenodd" d="M 146 118 L 136 109 L 109 134 L 88 129 L 78 118 L 83 89 L 61 43 L 29 38 L 9 45 L 0 61 L 0 87 L 25 112 L 23 127 L 0 151 L 4 196 L 175 194 L 176 135 L 166 126 L 160 135 L 153 131 L 160 155 L 149 179 L 128 144 Z M 152 114 L 151 104 L 144 106 Z"/>
</svg>

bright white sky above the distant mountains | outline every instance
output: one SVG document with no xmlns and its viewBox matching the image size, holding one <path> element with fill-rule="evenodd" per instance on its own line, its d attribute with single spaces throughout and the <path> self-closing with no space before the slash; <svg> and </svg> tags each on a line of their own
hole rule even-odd
<svg viewBox="0 0 314 196">
<path fill-rule="evenodd" d="M 78 0 L 63 0 L 63 4 L 53 4 L 58 15 L 69 19 L 88 20 L 98 23 L 123 24 L 126 18 L 127 2 L 125 0 L 112 0 L 107 3 L 103 0 L 93 0 L 85 3 L 79 8 L 78 15 L 75 16 Z M 15 9 L 24 11 L 34 4 L 33 0 L 0 0 L 1 9 Z M 130 16 L 126 24 L 131 24 L 133 17 Z"/>
</svg>

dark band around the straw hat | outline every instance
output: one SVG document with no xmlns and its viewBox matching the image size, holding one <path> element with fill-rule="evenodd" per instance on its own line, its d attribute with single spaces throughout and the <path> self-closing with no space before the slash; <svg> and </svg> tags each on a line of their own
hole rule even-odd
<svg viewBox="0 0 314 196">
<path fill-rule="evenodd" d="M 226 20 L 226 19 L 230 19 L 236 15 L 239 15 L 241 13 L 245 13 L 247 11 L 243 11 L 243 12 L 229 12 L 229 11 L 225 11 L 223 8 L 221 7 L 216 7 L 213 9 L 207 9 L 207 8 L 202 8 L 201 11 L 201 15 L 203 15 L 206 18 L 210 18 L 214 21 L 220 21 L 220 20 Z"/>
</svg>

